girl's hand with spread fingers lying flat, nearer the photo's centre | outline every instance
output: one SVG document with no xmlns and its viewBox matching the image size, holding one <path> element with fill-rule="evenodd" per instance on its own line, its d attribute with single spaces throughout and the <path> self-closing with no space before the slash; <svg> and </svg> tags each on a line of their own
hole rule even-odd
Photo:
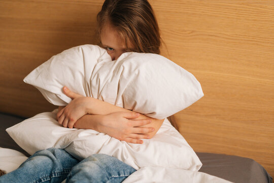
<svg viewBox="0 0 274 183">
<path fill-rule="evenodd" d="M 98 131 L 104 132 L 118 140 L 129 143 L 143 143 L 141 139 L 149 139 L 147 133 L 153 132 L 153 127 L 142 127 L 150 124 L 151 119 L 134 119 L 140 114 L 136 112 L 114 112 L 104 115 L 99 124 Z"/>
</svg>

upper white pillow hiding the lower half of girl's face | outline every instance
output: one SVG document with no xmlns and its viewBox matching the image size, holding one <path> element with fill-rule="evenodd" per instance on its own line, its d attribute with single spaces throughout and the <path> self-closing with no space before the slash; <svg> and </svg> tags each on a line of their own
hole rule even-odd
<svg viewBox="0 0 274 183">
<path fill-rule="evenodd" d="M 24 82 L 37 87 L 52 104 L 64 106 L 71 99 L 67 86 L 149 117 L 163 119 L 190 106 L 202 96 L 200 83 L 182 67 L 152 53 L 123 53 L 112 61 L 95 45 L 65 50 L 33 70 Z"/>
</svg>

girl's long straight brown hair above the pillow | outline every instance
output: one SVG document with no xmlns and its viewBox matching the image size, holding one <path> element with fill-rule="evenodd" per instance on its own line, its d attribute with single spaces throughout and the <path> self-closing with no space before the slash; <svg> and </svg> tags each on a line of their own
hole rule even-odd
<svg viewBox="0 0 274 183">
<path fill-rule="evenodd" d="M 97 34 L 109 22 L 119 36 L 133 45 L 130 51 L 160 53 L 161 37 L 151 5 L 147 0 L 106 0 L 97 15 Z"/>
</svg>

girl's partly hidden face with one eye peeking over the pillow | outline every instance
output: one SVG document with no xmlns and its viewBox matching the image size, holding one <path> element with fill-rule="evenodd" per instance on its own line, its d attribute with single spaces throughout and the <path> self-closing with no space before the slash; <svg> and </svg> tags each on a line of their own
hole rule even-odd
<svg viewBox="0 0 274 183">
<path fill-rule="evenodd" d="M 122 53 L 126 52 L 124 40 L 122 40 L 117 31 L 110 23 L 106 23 L 101 32 L 101 44 L 107 50 L 112 60 L 116 60 Z M 129 48 L 132 44 L 128 44 Z"/>
</svg>

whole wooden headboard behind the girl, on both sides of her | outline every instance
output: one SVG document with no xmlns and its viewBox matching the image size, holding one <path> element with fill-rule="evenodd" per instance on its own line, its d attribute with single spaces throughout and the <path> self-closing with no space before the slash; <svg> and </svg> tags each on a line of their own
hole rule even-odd
<svg viewBox="0 0 274 183">
<path fill-rule="evenodd" d="M 23 78 L 52 55 L 96 44 L 102 0 L 0 1 L 0 111 L 56 108 Z M 173 115 L 195 151 L 256 160 L 274 176 L 274 3 L 151 0 L 162 54 L 200 81 L 204 97 Z"/>
</svg>

